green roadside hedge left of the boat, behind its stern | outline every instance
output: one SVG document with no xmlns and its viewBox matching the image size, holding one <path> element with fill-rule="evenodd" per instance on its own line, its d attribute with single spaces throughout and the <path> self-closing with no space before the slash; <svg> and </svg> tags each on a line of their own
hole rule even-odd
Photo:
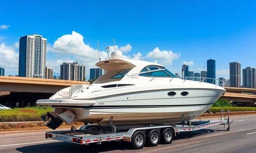
<svg viewBox="0 0 256 153">
<path fill-rule="evenodd" d="M 41 121 L 40 116 L 47 112 L 52 112 L 51 106 L 36 106 L 0 110 L 0 122 Z"/>
</svg>

